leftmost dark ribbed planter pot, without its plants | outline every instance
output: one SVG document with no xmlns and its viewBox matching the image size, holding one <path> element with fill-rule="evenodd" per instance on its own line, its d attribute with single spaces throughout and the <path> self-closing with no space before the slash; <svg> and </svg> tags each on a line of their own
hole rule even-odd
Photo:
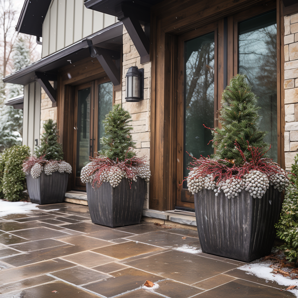
<svg viewBox="0 0 298 298">
<path fill-rule="evenodd" d="M 27 188 L 30 201 L 36 204 L 53 204 L 64 201 L 66 187 L 68 182 L 68 173 L 53 172 L 52 175 L 46 175 L 41 172 L 38 178 L 32 178 L 27 175 Z"/>
</svg>

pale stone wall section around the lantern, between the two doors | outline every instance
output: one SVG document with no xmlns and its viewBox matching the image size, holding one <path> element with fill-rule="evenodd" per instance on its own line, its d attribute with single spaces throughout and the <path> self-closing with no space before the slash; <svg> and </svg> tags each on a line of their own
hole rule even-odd
<svg viewBox="0 0 298 298">
<path fill-rule="evenodd" d="M 136 103 L 125 102 L 125 74 L 131 66 L 144 68 L 144 100 Z M 150 159 L 150 94 L 151 94 L 151 62 L 140 63 L 140 56 L 123 26 L 123 63 L 122 63 L 122 94 L 116 92 L 115 102 L 122 99 L 122 107 L 131 113 L 132 137 L 136 142 L 138 156 L 146 156 Z M 144 208 L 149 208 L 149 185 L 145 196 Z"/>
</svg>

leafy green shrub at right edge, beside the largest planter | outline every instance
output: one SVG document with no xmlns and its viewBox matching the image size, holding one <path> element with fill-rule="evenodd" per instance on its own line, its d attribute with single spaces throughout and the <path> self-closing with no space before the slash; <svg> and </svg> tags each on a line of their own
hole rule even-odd
<svg viewBox="0 0 298 298">
<path fill-rule="evenodd" d="M 277 238 L 285 241 L 279 248 L 290 262 L 297 262 L 298 258 L 298 154 L 294 159 L 289 175 L 292 184 L 285 191 L 280 220 L 275 225 Z"/>
</svg>

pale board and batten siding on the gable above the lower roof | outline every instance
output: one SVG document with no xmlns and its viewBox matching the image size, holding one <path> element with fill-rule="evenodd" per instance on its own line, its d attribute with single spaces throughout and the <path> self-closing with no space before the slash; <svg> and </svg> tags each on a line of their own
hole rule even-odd
<svg viewBox="0 0 298 298">
<path fill-rule="evenodd" d="M 42 28 L 42 57 L 116 22 L 113 15 L 87 9 L 83 0 L 52 0 Z"/>
</svg>

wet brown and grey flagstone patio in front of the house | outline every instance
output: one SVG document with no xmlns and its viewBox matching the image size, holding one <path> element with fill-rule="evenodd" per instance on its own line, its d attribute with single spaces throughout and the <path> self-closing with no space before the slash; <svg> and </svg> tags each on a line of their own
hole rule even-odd
<svg viewBox="0 0 298 298">
<path fill-rule="evenodd" d="M 202 253 L 196 231 L 99 226 L 88 206 L 38 206 L 2 217 L 0 230 L 2 298 L 295 297 L 242 262 Z M 146 280 L 159 288 L 142 289 Z"/>
</svg>

